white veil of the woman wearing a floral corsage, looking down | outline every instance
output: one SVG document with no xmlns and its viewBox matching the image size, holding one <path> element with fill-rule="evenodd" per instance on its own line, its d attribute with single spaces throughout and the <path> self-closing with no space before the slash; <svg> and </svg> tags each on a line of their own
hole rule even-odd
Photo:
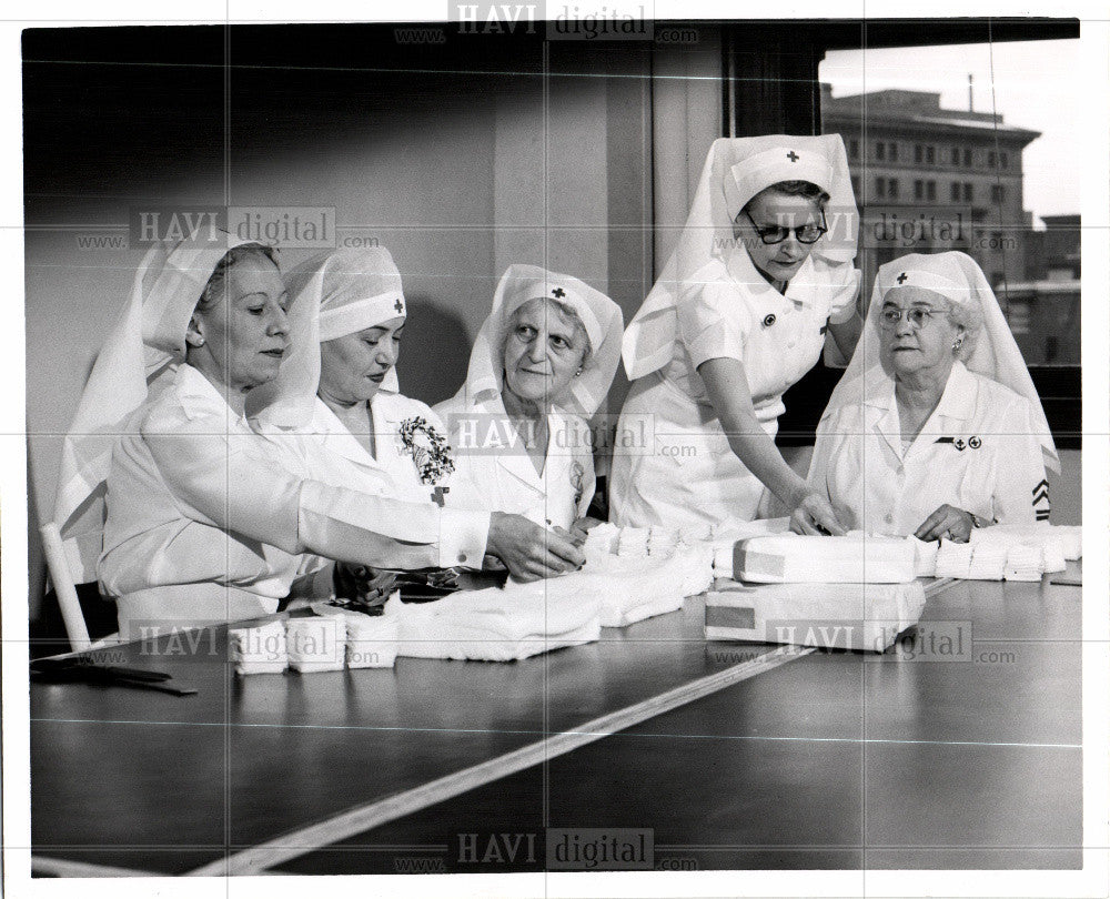
<svg viewBox="0 0 1110 899">
<path fill-rule="evenodd" d="M 401 272 L 384 246 L 329 250 L 289 270 L 290 350 L 278 377 L 251 391 L 252 424 L 297 428 L 312 421 L 320 344 L 407 315 Z M 396 366 L 379 388 L 398 393 Z"/>
</svg>

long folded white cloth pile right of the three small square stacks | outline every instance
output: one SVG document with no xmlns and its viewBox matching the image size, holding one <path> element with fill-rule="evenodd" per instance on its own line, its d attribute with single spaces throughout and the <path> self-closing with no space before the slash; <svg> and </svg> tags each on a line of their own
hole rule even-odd
<svg viewBox="0 0 1110 899">
<path fill-rule="evenodd" d="M 501 589 L 460 590 L 434 603 L 405 604 L 397 614 L 397 655 L 512 661 L 596 640 L 596 597 L 555 599 L 551 585 L 559 579 L 511 580 Z"/>
</svg>

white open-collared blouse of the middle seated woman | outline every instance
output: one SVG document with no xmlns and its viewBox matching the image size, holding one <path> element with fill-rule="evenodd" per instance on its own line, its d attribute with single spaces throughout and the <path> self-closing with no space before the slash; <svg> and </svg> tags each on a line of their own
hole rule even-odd
<svg viewBox="0 0 1110 899">
<path fill-rule="evenodd" d="M 435 412 L 446 423 L 455 462 L 448 506 L 514 513 L 541 526 L 563 528 L 586 514 L 595 477 L 589 426 L 583 418 L 558 408 L 548 413 L 541 475 L 500 394 L 467 402 L 460 392 Z"/>
</svg>

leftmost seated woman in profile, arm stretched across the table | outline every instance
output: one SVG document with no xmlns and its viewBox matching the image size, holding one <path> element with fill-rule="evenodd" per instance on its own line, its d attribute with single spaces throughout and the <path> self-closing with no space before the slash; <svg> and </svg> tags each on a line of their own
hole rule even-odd
<svg viewBox="0 0 1110 899">
<path fill-rule="evenodd" d="M 485 552 L 484 533 L 444 528 L 431 503 L 408 504 L 398 536 L 380 497 L 314 479 L 251 430 L 289 346 L 286 302 L 272 251 L 230 236 L 155 246 L 135 277 L 74 421 L 58 515 L 68 536 L 107 479 L 97 570 L 124 635 L 135 620 L 235 620 L 357 593 L 364 565 Z M 299 579 L 304 553 L 340 564 Z"/>
</svg>

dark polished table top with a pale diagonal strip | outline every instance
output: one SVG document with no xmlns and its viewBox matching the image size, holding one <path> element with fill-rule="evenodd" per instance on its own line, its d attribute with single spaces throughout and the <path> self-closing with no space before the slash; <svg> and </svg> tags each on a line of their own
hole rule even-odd
<svg viewBox="0 0 1110 899">
<path fill-rule="evenodd" d="M 236 678 L 215 640 L 214 659 L 148 659 L 192 698 L 32 685 L 33 851 L 213 873 L 284 840 L 285 858 L 246 870 L 537 870 L 542 848 L 475 862 L 460 840 L 625 827 L 654 831 L 657 861 L 699 869 L 1078 867 L 1081 590 L 1050 580 L 931 595 L 916 654 L 706 643 L 692 599 L 509 665 Z M 960 634 L 959 658 L 937 649 Z M 363 832 L 299 836 L 771 651 L 758 676 L 566 755 Z"/>
</svg>

